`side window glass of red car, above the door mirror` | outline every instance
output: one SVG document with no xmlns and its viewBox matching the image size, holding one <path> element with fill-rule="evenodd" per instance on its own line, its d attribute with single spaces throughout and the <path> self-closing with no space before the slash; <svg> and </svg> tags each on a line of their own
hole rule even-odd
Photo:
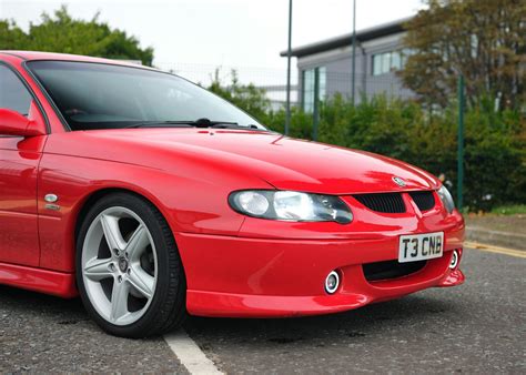
<svg viewBox="0 0 526 375">
<path fill-rule="evenodd" d="M 17 74 L 0 64 L 0 108 L 28 115 L 32 97 Z"/>
</svg>

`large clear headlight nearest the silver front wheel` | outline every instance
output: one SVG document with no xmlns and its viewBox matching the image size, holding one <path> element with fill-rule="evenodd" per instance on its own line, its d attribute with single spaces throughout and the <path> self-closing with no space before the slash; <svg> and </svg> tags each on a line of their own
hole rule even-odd
<svg viewBox="0 0 526 375">
<path fill-rule="evenodd" d="M 353 221 L 351 209 L 337 196 L 291 191 L 246 190 L 233 192 L 229 203 L 235 211 L 254 217 L 296 222 Z"/>
</svg>

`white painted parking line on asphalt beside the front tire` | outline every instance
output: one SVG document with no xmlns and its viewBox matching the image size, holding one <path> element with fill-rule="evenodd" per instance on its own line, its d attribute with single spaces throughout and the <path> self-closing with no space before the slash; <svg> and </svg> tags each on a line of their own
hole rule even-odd
<svg viewBox="0 0 526 375">
<path fill-rule="evenodd" d="M 165 335 L 164 341 L 190 374 L 223 374 L 183 330 Z"/>
</svg>

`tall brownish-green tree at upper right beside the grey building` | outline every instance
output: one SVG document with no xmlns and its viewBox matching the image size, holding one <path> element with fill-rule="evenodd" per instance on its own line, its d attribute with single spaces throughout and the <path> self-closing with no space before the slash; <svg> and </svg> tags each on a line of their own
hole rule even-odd
<svg viewBox="0 0 526 375">
<path fill-rule="evenodd" d="M 406 23 L 412 51 L 404 83 L 427 104 L 446 107 L 463 74 L 468 104 L 518 109 L 525 102 L 526 1 L 424 0 Z"/>
</svg>

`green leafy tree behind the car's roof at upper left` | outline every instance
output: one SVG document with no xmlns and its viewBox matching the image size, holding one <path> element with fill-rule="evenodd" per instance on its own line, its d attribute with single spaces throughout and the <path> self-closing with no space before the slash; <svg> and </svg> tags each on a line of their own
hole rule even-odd
<svg viewBox="0 0 526 375">
<path fill-rule="evenodd" d="M 141 49 L 139 41 L 124 31 L 99 21 L 73 19 L 65 7 L 53 16 L 42 13 L 40 24 L 30 24 L 24 33 L 13 21 L 0 20 L 0 50 L 37 50 L 75 53 L 108 59 L 141 60 L 151 65 L 153 49 Z"/>
</svg>

